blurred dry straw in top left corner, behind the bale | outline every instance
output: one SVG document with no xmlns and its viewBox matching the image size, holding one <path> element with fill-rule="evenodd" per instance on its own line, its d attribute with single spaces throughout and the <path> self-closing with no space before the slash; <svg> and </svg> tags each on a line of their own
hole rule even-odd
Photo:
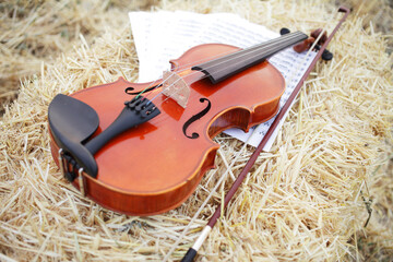
<svg viewBox="0 0 393 262">
<path fill-rule="evenodd" d="M 105 28 L 122 27 L 124 10 L 152 1 L 20 1 L 0 3 L 0 105 L 15 98 L 20 79 L 40 71 L 62 52 L 80 45 L 82 34 L 93 43 Z M 2 112 L 2 110 L 0 111 Z"/>
</svg>

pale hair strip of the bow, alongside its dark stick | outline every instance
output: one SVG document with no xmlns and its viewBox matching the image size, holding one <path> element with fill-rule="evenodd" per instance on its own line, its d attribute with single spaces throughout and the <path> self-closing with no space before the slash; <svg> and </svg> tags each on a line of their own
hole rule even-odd
<svg viewBox="0 0 393 262">
<path fill-rule="evenodd" d="M 314 46 L 317 45 L 318 40 L 320 39 L 320 37 L 322 36 L 322 34 L 325 32 L 325 29 L 323 29 L 321 32 L 321 34 L 318 36 L 318 38 L 315 39 L 315 41 L 313 43 L 313 45 L 311 46 L 311 48 L 308 50 L 308 52 L 306 53 L 306 56 L 297 62 L 297 70 L 295 70 L 295 73 L 293 72 L 290 75 L 290 81 L 293 80 L 293 78 L 295 76 L 295 74 L 300 70 L 299 64 L 301 64 L 306 57 L 308 57 L 311 52 L 311 50 L 314 48 Z M 290 83 L 290 82 L 289 82 Z M 233 159 L 233 162 L 230 163 L 230 165 L 226 168 L 224 175 L 218 179 L 217 183 L 215 184 L 215 187 L 211 190 L 210 194 L 207 195 L 206 200 L 202 203 L 202 205 L 199 207 L 199 210 L 196 211 L 196 213 L 193 215 L 193 217 L 191 218 L 190 223 L 187 225 L 187 227 L 182 230 L 181 235 L 178 237 L 178 239 L 176 240 L 176 242 L 172 245 L 172 247 L 170 248 L 170 250 L 168 251 L 168 253 L 165 255 L 164 258 L 164 262 L 166 262 L 169 257 L 171 255 L 171 253 L 175 251 L 175 249 L 178 247 L 178 245 L 180 243 L 180 241 L 184 238 L 186 234 L 189 231 L 190 227 L 192 226 L 192 224 L 194 223 L 194 221 L 198 218 L 199 214 L 201 213 L 201 211 L 204 209 L 204 206 L 207 204 L 207 202 L 210 201 L 210 199 L 212 198 L 212 195 L 216 192 L 218 186 L 222 183 L 222 181 L 224 180 L 224 178 L 227 177 L 227 174 L 229 171 L 229 169 L 235 165 L 235 163 L 237 162 L 238 156 L 240 155 L 240 153 L 245 150 L 245 147 L 248 145 L 249 141 L 251 140 L 251 138 L 258 132 L 257 131 L 258 128 L 255 128 L 251 135 L 247 139 L 247 141 L 245 142 L 243 146 L 240 148 L 240 151 L 238 151 L 238 154 L 236 155 L 236 157 Z M 221 203 L 221 205 L 223 206 L 223 202 Z M 198 250 L 196 250 L 198 251 Z"/>
</svg>

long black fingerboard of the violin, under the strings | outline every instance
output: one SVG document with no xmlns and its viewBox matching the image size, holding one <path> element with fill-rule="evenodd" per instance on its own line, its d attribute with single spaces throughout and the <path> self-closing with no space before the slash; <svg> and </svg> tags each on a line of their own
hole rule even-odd
<svg viewBox="0 0 393 262">
<path fill-rule="evenodd" d="M 213 84 L 216 84 L 307 38 L 308 36 L 301 32 L 286 34 L 257 46 L 196 64 L 192 67 L 192 70 L 203 72 Z"/>
</svg>

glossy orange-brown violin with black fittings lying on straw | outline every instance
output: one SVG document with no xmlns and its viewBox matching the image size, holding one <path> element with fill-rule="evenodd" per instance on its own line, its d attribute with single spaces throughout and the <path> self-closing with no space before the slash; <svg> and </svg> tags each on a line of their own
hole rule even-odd
<svg viewBox="0 0 393 262">
<path fill-rule="evenodd" d="M 106 209 L 139 216 L 175 209 L 214 168 L 215 135 L 277 114 L 285 80 L 266 58 L 311 41 L 296 32 L 246 49 L 200 45 L 154 82 L 120 78 L 59 94 L 48 108 L 55 162 Z"/>
</svg>

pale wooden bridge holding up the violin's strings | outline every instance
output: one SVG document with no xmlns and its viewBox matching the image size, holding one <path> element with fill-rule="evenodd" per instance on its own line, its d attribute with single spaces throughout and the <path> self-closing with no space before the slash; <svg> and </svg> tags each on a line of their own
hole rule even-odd
<svg viewBox="0 0 393 262">
<path fill-rule="evenodd" d="M 163 94 L 176 100 L 182 108 L 186 108 L 191 93 L 190 86 L 175 72 L 164 71 L 163 79 Z"/>
</svg>

